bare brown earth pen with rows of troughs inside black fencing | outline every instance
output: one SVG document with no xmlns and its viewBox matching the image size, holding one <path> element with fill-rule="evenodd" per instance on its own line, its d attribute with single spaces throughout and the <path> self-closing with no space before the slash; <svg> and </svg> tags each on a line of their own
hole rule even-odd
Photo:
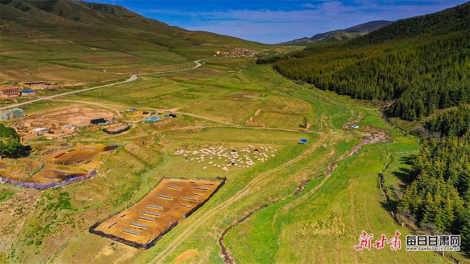
<svg viewBox="0 0 470 264">
<path fill-rule="evenodd" d="M 164 178 L 145 198 L 129 207 L 127 210 L 100 223 L 95 230 L 128 241 L 145 244 L 158 237 L 162 231 L 170 227 L 175 221 L 181 219 L 182 216 L 188 213 L 193 207 L 204 203 L 222 182 L 222 180 Z M 181 190 L 169 186 L 181 188 Z M 195 187 L 207 188 L 209 190 L 198 190 L 195 189 Z M 195 195 L 195 193 L 199 195 Z M 159 195 L 171 197 L 172 199 L 162 198 L 159 197 Z M 197 199 L 197 201 L 185 199 L 184 197 Z M 163 209 L 148 207 L 148 205 L 162 206 Z M 160 214 L 160 216 L 146 214 L 145 212 Z M 139 219 L 140 216 L 152 220 Z M 131 225 L 131 222 L 147 227 L 142 228 Z M 141 235 L 126 233 L 124 229 L 138 232 Z"/>
</svg>

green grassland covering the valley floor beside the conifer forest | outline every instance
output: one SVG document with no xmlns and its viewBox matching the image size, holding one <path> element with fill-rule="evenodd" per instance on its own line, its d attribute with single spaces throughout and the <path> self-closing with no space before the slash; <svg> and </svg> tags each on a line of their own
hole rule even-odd
<svg viewBox="0 0 470 264">
<path fill-rule="evenodd" d="M 0 200 L 4 226 L 0 237 L 5 241 L 0 260 L 223 263 L 217 242 L 220 234 L 252 210 L 277 201 L 227 233 L 224 242 L 236 262 L 447 262 L 434 253 L 408 253 L 403 248 L 404 236 L 409 233 L 394 222 L 385 206 L 377 188 L 378 173 L 385 162 L 392 162 L 384 177 L 390 188 L 398 186 L 400 191 L 405 179 L 397 172 L 406 168 L 404 163 L 419 144 L 387 125 L 374 105 L 295 84 L 269 66 L 254 65 L 251 59 L 206 62 L 197 69 L 145 75 L 135 82 L 29 105 L 28 115 L 53 112 L 70 101 L 99 109 L 136 107 L 139 111 L 118 118 L 131 124 L 127 132 L 108 135 L 84 126 L 66 139 L 71 144 L 120 143 L 117 154 L 106 159 L 93 179 L 44 192 L 0 185 L 0 192 L 7 194 Z M 79 64 L 86 66 L 87 62 Z M 137 122 L 145 117 L 142 110 L 173 111 L 177 118 L 143 124 Z M 258 110 L 253 122 L 263 126 L 244 125 Z M 299 130 L 304 117 L 311 125 L 307 131 Z M 348 131 L 350 123 L 360 128 Z M 378 132 L 391 140 L 365 145 L 346 157 L 361 137 Z M 300 138 L 306 138 L 307 143 L 297 144 Z M 34 149 L 41 142 L 27 143 Z M 267 161 L 255 160 L 256 165 L 250 168 L 222 171 L 212 167 L 203 170 L 202 166 L 208 165 L 186 163 L 183 156 L 175 155 L 180 149 L 220 146 L 230 150 L 250 144 L 276 149 L 275 157 L 269 153 Z M 327 148 L 320 148 L 323 144 Z M 336 169 L 325 174 L 337 161 Z M 112 247 L 110 240 L 88 233 L 96 220 L 141 198 L 163 176 L 226 176 L 228 182 L 149 250 L 119 243 Z M 305 180 L 310 181 L 293 196 Z M 4 218 L 7 215 L 8 220 Z M 375 238 L 381 234 L 390 237 L 399 230 L 402 249 L 356 251 L 353 247 L 362 230 Z"/>
</svg>

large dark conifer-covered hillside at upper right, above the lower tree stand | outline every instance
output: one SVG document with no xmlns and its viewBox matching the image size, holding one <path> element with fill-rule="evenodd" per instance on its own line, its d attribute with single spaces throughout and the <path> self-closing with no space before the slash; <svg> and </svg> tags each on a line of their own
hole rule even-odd
<svg viewBox="0 0 470 264">
<path fill-rule="evenodd" d="M 274 68 L 316 88 L 389 101 L 392 116 L 421 119 L 470 100 L 469 9 L 467 2 L 346 43 L 309 46 Z"/>
</svg>

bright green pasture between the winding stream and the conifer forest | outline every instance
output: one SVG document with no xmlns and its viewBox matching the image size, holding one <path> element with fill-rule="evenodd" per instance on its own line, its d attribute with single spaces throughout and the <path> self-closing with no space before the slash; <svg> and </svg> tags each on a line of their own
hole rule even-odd
<svg viewBox="0 0 470 264">
<path fill-rule="evenodd" d="M 299 196 L 268 206 L 233 228 L 226 236 L 226 243 L 235 260 L 240 263 L 446 263 L 435 253 L 404 249 L 404 237 L 409 232 L 392 220 L 377 188 L 377 175 L 386 154 L 381 148 L 369 148 L 363 154 L 342 161 L 325 181 L 312 180 Z M 387 245 L 383 249 L 356 251 L 353 247 L 359 243 L 362 230 L 374 234 L 375 239 L 382 234 L 390 238 L 399 230 L 402 249 L 393 251 Z"/>
</svg>

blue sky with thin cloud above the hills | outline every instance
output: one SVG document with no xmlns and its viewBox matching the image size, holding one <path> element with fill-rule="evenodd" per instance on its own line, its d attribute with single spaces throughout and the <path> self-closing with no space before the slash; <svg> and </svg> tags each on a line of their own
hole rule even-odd
<svg viewBox="0 0 470 264">
<path fill-rule="evenodd" d="M 374 21 L 396 21 L 463 4 L 463 0 L 87 0 L 122 5 L 144 17 L 276 44 Z"/>
</svg>

